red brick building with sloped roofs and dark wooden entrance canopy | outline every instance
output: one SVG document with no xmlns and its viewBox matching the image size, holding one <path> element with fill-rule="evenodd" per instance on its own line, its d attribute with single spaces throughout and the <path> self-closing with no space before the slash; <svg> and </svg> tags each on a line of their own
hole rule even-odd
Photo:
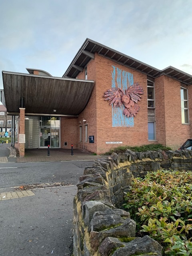
<svg viewBox="0 0 192 256">
<path fill-rule="evenodd" d="M 10 115 L 19 116 L 14 141 L 20 156 L 24 148 L 48 144 L 73 144 L 97 154 L 151 143 L 176 149 L 191 138 L 192 76 L 181 70 L 158 70 L 90 39 L 62 78 L 27 70 L 30 74 L 2 72 L 2 103 Z M 133 95 L 136 83 L 140 93 L 134 89 Z M 107 91 L 112 105 L 104 97 Z"/>
</svg>

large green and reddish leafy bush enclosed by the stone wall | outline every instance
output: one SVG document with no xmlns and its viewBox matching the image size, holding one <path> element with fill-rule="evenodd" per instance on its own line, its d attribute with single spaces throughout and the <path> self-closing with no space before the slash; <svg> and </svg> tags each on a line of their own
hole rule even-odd
<svg viewBox="0 0 192 256">
<path fill-rule="evenodd" d="M 169 256 L 192 255 L 192 172 L 159 170 L 134 178 L 124 208 L 139 235 L 148 234 Z"/>
</svg>

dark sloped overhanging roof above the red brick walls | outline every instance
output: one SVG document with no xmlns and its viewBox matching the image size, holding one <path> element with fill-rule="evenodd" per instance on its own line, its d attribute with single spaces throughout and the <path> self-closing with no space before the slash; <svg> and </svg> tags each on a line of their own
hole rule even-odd
<svg viewBox="0 0 192 256">
<path fill-rule="evenodd" d="M 118 52 L 112 48 L 99 44 L 90 39 L 86 39 L 70 66 L 67 68 L 63 77 L 76 78 L 77 75 L 83 70 L 88 62 L 94 58 L 94 53 L 97 52 L 100 56 L 118 62 L 124 66 L 137 70 L 143 74 L 146 74 L 152 78 L 157 78 L 161 75 L 170 76 L 186 85 L 192 84 L 192 75 L 187 74 L 177 68 L 169 66 L 163 70 L 154 68 L 144 62 L 136 60 L 126 54 Z"/>
</svg>

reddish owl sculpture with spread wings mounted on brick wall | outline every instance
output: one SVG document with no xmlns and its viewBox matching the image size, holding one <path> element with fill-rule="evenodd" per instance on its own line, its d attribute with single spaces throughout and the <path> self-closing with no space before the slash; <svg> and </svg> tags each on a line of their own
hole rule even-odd
<svg viewBox="0 0 192 256">
<path fill-rule="evenodd" d="M 121 88 L 112 87 L 104 93 L 103 97 L 104 100 L 110 102 L 110 105 L 113 104 L 113 107 L 120 107 L 124 104 L 123 114 L 133 117 L 140 110 L 137 102 L 141 100 L 141 94 L 143 94 L 143 88 L 135 83 L 126 90 L 126 93 Z"/>
</svg>

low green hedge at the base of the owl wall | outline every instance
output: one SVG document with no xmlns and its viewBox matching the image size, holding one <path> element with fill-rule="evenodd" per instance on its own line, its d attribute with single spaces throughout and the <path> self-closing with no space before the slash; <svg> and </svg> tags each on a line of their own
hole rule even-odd
<svg viewBox="0 0 192 256">
<path fill-rule="evenodd" d="M 106 152 L 105 155 L 110 155 L 112 152 L 114 153 L 125 153 L 127 149 L 130 149 L 134 152 L 144 152 L 144 151 L 157 151 L 157 150 L 172 150 L 169 147 L 163 146 L 162 144 L 148 144 L 148 145 L 143 145 L 143 146 L 136 146 L 136 147 L 130 147 L 130 146 L 120 146 L 117 148 L 112 148 L 110 151 Z"/>
</svg>

